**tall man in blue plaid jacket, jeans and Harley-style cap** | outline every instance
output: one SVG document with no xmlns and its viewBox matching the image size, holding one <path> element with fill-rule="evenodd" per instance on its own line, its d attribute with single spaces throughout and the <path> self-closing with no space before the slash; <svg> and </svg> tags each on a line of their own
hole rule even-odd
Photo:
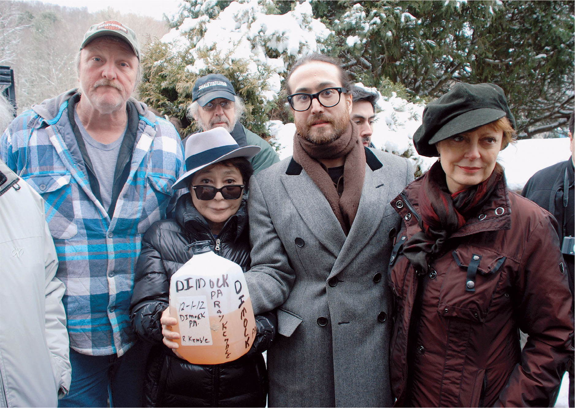
<svg viewBox="0 0 575 408">
<path fill-rule="evenodd" d="M 45 200 L 66 285 L 72 383 L 59 406 L 141 405 L 148 346 L 128 316 L 133 270 L 144 232 L 178 199 L 171 186 L 185 164 L 173 125 L 131 97 L 140 75 L 133 30 L 95 24 L 79 89 L 34 105 L 0 138 L 2 159 Z"/>
</svg>

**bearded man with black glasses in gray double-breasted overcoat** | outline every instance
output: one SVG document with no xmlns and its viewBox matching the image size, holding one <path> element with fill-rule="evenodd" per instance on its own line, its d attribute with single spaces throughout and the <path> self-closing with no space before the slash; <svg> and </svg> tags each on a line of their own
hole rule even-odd
<svg viewBox="0 0 575 408">
<path fill-rule="evenodd" d="M 389 205 L 411 163 L 363 147 L 352 83 L 309 55 L 286 79 L 294 153 L 252 177 L 254 312 L 277 309 L 269 406 L 391 406 L 387 265 L 400 219 Z"/>
</svg>

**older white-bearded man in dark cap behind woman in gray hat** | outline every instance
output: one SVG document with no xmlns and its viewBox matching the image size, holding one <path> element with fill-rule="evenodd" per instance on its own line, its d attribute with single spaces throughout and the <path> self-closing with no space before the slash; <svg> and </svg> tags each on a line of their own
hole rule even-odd
<svg viewBox="0 0 575 408">
<path fill-rule="evenodd" d="M 198 78 L 191 90 L 191 101 L 188 116 L 196 120 L 198 131 L 221 126 L 240 147 L 255 145 L 262 149 L 250 160 L 254 174 L 279 162 L 274 148 L 240 123 L 246 108 L 224 75 L 208 74 Z"/>
</svg>

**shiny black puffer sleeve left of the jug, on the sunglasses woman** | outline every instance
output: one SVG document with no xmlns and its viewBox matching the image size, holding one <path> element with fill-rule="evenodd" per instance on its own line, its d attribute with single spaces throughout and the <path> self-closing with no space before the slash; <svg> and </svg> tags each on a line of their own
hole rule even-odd
<svg viewBox="0 0 575 408">
<path fill-rule="evenodd" d="M 160 317 L 168 307 L 170 293 L 170 281 L 160 253 L 160 237 L 158 223 L 144 235 L 129 310 L 132 329 L 151 342 L 162 341 Z"/>
</svg>

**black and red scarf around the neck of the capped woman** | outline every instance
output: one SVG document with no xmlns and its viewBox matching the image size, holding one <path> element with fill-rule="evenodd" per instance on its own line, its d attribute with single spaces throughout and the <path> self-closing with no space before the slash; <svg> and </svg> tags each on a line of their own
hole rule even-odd
<svg viewBox="0 0 575 408">
<path fill-rule="evenodd" d="M 416 192 L 421 231 L 409 238 L 403 249 L 416 271 L 427 272 L 430 258 L 438 254 L 446 239 L 489 200 L 501 177 L 503 167 L 496 163 L 487 180 L 452 195 L 441 163 L 435 162 L 431 166 Z"/>
</svg>

